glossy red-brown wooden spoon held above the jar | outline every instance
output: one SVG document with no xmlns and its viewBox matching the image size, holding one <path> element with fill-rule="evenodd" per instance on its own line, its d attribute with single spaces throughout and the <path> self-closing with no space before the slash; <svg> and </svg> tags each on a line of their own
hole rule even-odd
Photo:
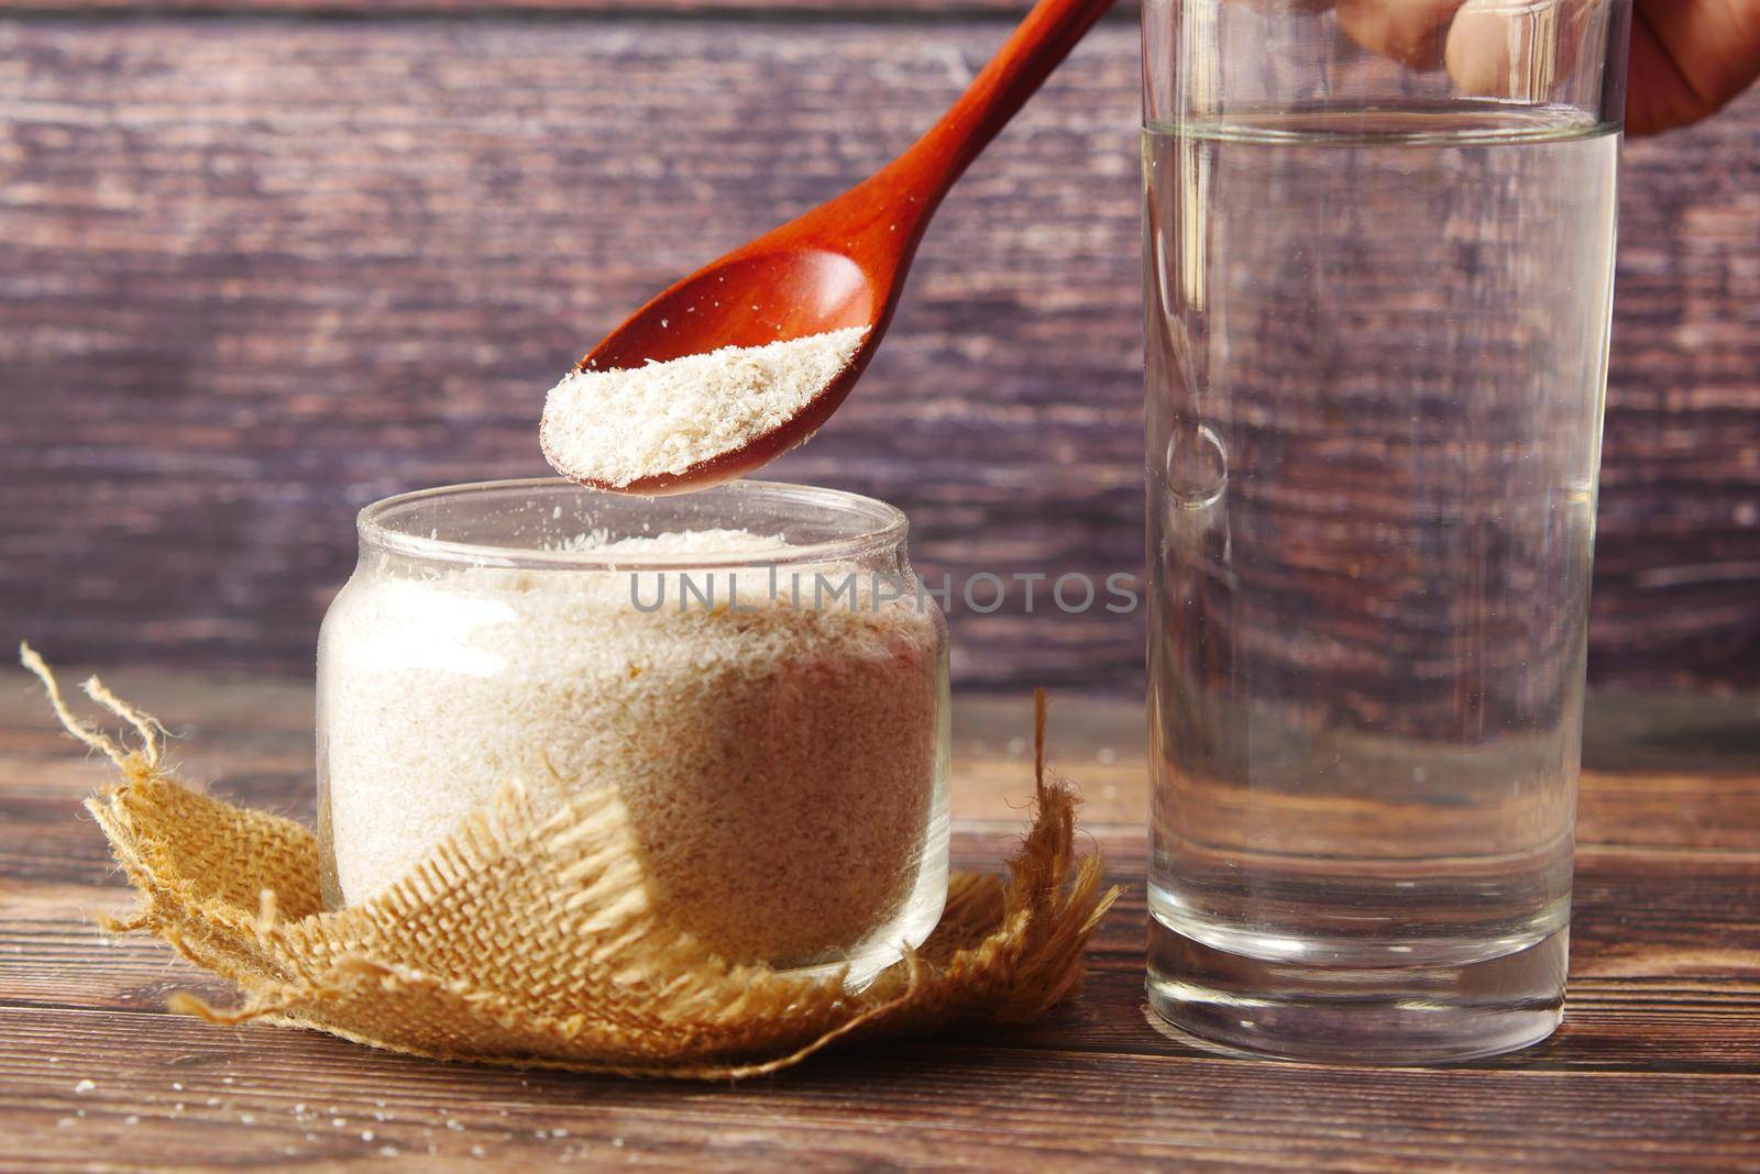
<svg viewBox="0 0 1760 1174">
<path fill-rule="evenodd" d="M 868 327 L 843 373 L 785 424 L 681 473 L 628 485 L 676 494 L 743 476 L 804 443 L 850 394 L 880 346 L 929 216 L 961 172 L 1114 0 L 1038 0 L 972 86 L 908 151 L 843 195 L 699 269 L 611 332 L 583 371 L 665 362 Z"/>
</svg>

